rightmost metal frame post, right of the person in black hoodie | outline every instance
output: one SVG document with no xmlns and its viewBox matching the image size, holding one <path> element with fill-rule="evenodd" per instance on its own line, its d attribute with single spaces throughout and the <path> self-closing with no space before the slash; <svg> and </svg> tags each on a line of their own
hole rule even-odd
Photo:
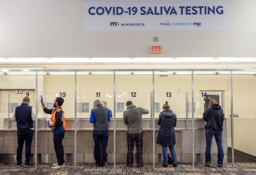
<svg viewBox="0 0 256 175">
<path fill-rule="evenodd" d="M 232 169 L 234 169 L 234 120 L 233 120 L 233 71 L 230 71 L 230 86 L 231 86 L 231 149 L 232 149 Z"/>
</svg>

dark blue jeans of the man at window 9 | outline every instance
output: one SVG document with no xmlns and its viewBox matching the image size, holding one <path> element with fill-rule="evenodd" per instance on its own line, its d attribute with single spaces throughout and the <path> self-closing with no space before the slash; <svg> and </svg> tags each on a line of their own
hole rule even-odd
<svg viewBox="0 0 256 175">
<path fill-rule="evenodd" d="M 22 149 L 25 141 L 25 164 L 30 163 L 30 158 L 31 158 L 31 143 L 33 139 L 33 131 L 32 129 L 17 129 L 17 157 L 16 161 L 18 164 L 21 164 L 21 159 L 22 159 Z"/>
</svg>

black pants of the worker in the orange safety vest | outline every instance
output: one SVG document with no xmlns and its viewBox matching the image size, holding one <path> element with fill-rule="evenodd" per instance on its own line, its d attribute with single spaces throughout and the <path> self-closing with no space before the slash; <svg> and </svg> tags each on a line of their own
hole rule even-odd
<svg viewBox="0 0 256 175">
<path fill-rule="evenodd" d="M 54 150 L 57 157 L 58 165 L 63 165 L 64 161 L 64 148 L 62 145 L 62 140 L 64 139 L 64 135 L 56 135 L 53 134 L 53 143 L 54 143 Z"/>
</svg>

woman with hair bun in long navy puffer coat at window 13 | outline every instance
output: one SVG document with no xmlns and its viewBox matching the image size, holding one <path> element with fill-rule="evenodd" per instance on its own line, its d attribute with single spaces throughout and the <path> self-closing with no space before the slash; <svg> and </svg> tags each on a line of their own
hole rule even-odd
<svg viewBox="0 0 256 175">
<path fill-rule="evenodd" d="M 159 114 L 157 124 L 160 125 L 156 144 L 162 145 L 162 154 L 163 154 L 163 166 L 167 167 L 168 165 L 168 155 L 167 155 L 167 146 L 171 151 L 173 166 L 177 167 L 177 156 L 174 149 L 174 145 L 176 144 L 175 139 L 175 131 L 174 127 L 177 124 L 176 114 L 170 110 L 170 105 L 168 105 L 168 101 L 165 102 L 163 106 L 164 111 Z"/>
</svg>

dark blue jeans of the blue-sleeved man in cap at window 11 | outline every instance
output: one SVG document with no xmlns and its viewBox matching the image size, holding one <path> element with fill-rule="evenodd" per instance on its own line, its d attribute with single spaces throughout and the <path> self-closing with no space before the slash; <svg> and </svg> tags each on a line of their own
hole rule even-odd
<svg viewBox="0 0 256 175">
<path fill-rule="evenodd" d="M 93 131 L 93 140 L 94 140 L 94 159 L 95 159 L 95 164 L 100 163 L 100 158 L 98 157 L 98 144 L 99 144 L 99 139 L 102 140 L 102 146 L 103 146 L 103 157 L 104 161 L 106 162 L 107 160 L 107 145 L 108 145 L 108 130 L 106 131 Z"/>
</svg>

